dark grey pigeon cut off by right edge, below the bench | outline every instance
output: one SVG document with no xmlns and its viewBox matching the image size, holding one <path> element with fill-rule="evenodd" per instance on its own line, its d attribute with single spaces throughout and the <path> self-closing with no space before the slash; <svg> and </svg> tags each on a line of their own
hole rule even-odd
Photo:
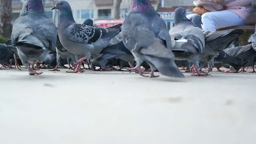
<svg viewBox="0 0 256 144">
<path fill-rule="evenodd" d="M 247 61 L 244 63 L 243 66 L 236 65 L 234 66 L 235 72 L 238 72 L 242 67 L 252 66 L 254 67 L 255 64 L 255 58 L 256 58 L 256 50 L 252 47 L 252 43 L 247 44 L 245 46 L 237 46 L 234 48 L 226 48 L 224 50 L 226 54 L 229 56 L 240 58 L 244 61 Z M 233 66 L 230 68 L 230 70 L 227 70 L 226 73 L 230 72 L 233 69 Z"/>
</svg>

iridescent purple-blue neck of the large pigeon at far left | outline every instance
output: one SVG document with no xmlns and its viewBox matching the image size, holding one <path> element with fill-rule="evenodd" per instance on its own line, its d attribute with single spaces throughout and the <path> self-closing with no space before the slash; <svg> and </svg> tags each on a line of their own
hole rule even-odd
<svg viewBox="0 0 256 144">
<path fill-rule="evenodd" d="M 44 12 L 44 6 L 42 0 L 27 0 L 24 6 L 24 12 L 35 11 L 35 12 Z"/>
</svg>

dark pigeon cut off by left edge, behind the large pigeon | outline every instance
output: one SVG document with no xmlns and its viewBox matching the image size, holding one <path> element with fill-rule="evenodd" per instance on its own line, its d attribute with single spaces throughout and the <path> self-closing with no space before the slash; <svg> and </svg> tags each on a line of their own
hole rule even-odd
<svg viewBox="0 0 256 144">
<path fill-rule="evenodd" d="M 5 44 L 0 44 L 0 46 L 5 46 Z M 8 48 L 1 48 L 0 49 L 0 64 L 4 68 L 12 68 L 11 60 L 14 59 L 14 55 Z M 9 67 L 6 67 L 7 64 Z"/>
</svg>

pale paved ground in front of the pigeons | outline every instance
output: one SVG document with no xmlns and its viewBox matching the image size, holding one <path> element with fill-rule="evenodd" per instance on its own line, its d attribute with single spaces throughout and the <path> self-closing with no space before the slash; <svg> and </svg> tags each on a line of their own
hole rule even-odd
<svg viewBox="0 0 256 144">
<path fill-rule="evenodd" d="M 0 70 L 0 144 L 255 144 L 256 74 Z"/>
</svg>

